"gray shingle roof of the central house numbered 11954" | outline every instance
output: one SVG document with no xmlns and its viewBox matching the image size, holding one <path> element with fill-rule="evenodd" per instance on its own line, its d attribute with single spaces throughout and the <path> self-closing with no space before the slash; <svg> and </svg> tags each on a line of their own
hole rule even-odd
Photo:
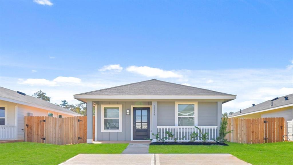
<svg viewBox="0 0 293 165">
<path fill-rule="evenodd" d="M 222 92 L 169 83 L 156 79 L 126 84 L 77 95 L 207 95 L 207 96 L 235 96 Z"/>
</svg>

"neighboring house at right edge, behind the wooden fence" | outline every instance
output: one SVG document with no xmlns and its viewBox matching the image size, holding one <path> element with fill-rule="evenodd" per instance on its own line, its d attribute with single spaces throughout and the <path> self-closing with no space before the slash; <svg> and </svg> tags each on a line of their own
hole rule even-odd
<svg viewBox="0 0 293 165">
<path fill-rule="evenodd" d="M 284 139 L 293 140 L 293 94 L 276 97 L 229 115 L 230 118 L 284 117 Z"/>
</svg>

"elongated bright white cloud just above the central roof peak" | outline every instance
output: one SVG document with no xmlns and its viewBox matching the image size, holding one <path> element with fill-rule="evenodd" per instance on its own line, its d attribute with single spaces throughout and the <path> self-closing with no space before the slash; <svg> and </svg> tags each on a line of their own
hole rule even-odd
<svg viewBox="0 0 293 165">
<path fill-rule="evenodd" d="M 138 73 L 147 77 L 158 78 L 182 78 L 183 76 L 171 70 L 163 70 L 159 68 L 151 68 L 148 66 L 130 66 L 126 68 L 128 72 Z"/>
</svg>

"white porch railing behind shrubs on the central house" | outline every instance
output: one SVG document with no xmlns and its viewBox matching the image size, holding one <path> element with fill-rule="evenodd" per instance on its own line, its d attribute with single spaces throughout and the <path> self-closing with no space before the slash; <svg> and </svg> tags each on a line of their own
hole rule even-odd
<svg viewBox="0 0 293 165">
<path fill-rule="evenodd" d="M 207 142 L 213 142 L 212 139 L 217 137 L 217 126 L 198 126 L 198 128 L 202 133 L 209 133 L 207 135 Z M 166 131 L 172 132 L 173 138 L 168 137 Z M 168 139 L 165 139 L 166 142 L 173 142 L 175 138 L 177 142 L 189 142 L 191 139 L 190 135 L 193 132 L 197 132 L 198 137 L 195 138 L 195 142 L 201 142 L 199 130 L 193 126 L 157 126 L 157 132 L 160 135 L 160 139 L 168 137 Z"/>
</svg>

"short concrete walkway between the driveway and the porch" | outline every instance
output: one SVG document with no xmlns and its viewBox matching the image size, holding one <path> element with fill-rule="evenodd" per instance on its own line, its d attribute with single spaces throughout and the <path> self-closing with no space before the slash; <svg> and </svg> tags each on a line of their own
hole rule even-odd
<svg viewBox="0 0 293 165">
<path fill-rule="evenodd" d="M 146 143 L 130 143 L 122 154 L 148 154 L 149 142 Z"/>
</svg>

